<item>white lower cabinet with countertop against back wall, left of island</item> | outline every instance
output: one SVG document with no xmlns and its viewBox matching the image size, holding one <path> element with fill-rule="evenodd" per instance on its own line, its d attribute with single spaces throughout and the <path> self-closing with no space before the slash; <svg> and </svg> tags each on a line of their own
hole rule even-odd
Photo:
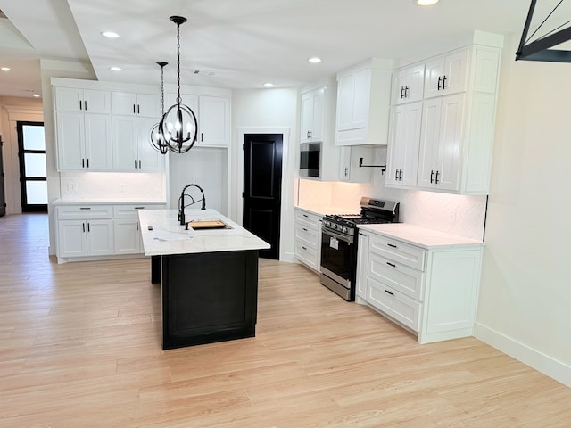
<svg viewBox="0 0 571 428">
<path fill-rule="evenodd" d="M 161 208 L 163 204 L 58 206 L 58 262 L 143 253 L 138 210 Z"/>
</svg>

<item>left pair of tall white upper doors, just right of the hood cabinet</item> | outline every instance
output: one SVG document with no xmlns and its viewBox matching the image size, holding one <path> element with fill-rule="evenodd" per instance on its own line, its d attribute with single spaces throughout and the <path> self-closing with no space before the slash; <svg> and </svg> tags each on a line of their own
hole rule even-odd
<svg viewBox="0 0 571 428">
<path fill-rule="evenodd" d="M 421 102 L 402 104 L 391 110 L 385 179 L 387 185 L 417 185 L 421 118 Z"/>
</svg>

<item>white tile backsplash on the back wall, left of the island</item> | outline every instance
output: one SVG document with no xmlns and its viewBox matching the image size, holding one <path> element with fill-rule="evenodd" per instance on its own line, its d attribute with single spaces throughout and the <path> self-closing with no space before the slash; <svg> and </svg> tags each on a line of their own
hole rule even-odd
<svg viewBox="0 0 571 428">
<path fill-rule="evenodd" d="M 62 172 L 62 200 L 167 201 L 163 173 Z"/>
</svg>

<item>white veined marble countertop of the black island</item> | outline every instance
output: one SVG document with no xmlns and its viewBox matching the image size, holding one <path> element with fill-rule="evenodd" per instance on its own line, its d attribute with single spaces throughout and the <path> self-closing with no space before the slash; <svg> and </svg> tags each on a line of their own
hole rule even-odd
<svg viewBox="0 0 571 428">
<path fill-rule="evenodd" d="M 185 210 L 186 221 L 222 220 L 230 228 L 188 230 L 178 224 L 178 210 L 139 210 L 145 256 L 269 249 L 269 243 L 216 210 Z M 152 226 L 153 230 L 148 230 Z"/>
</svg>

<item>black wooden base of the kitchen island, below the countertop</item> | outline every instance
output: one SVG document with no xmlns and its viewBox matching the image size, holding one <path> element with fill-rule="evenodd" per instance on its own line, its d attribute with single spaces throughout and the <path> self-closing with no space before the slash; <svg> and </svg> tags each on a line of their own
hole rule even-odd
<svg viewBox="0 0 571 428">
<path fill-rule="evenodd" d="M 163 350 L 255 336 L 257 250 L 159 257 Z"/>
</svg>

